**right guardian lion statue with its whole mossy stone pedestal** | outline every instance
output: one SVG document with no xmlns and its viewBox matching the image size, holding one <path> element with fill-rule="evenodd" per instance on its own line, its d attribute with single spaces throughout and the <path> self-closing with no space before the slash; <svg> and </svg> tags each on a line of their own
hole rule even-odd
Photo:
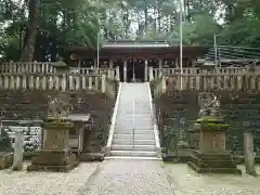
<svg viewBox="0 0 260 195">
<path fill-rule="evenodd" d="M 230 126 L 220 113 L 220 102 L 210 93 L 204 95 L 208 100 L 199 103 L 202 109 L 193 129 L 198 134 L 198 145 L 192 150 L 188 165 L 198 173 L 240 174 L 231 152 L 225 150 L 225 131 Z"/>
</svg>

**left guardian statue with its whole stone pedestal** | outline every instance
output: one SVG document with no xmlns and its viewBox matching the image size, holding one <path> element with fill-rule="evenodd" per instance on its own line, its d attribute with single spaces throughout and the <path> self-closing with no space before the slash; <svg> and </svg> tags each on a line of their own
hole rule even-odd
<svg viewBox="0 0 260 195">
<path fill-rule="evenodd" d="M 28 171 L 69 171 L 79 160 L 69 147 L 69 130 L 74 123 L 66 117 L 69 104 L 60 95 L 49 103 L 49 116 L 43 123 L 43 148 L 35 157 Z"/>
</svg>

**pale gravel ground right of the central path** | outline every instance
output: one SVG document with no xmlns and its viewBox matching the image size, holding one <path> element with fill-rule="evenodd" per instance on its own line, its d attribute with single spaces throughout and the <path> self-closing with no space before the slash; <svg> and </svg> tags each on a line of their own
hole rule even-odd
<svg viewBox="0 0 260 195">
<path fill-rule="evenodd" d="M 167 179 L 176 195 L 260 195 L 260 178 L 243 174 L 197 174 L 185 164 L 165 164 Z M 260 173 L 260 167 L 257 167 Z"/>
</svg>

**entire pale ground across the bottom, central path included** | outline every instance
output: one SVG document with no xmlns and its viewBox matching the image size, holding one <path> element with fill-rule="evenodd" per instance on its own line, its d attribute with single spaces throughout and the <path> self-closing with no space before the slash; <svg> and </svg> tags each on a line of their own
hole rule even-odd
<svg viewBox="0 0 260 195">
<path fill-rule="evenodd" d="M 260 177 L 239 168 L 242 177 L 210 176 L 185 164 L 110 159 L 81 164 L 68 173 L 3 170 L 0 195 L 260 195 Z"/>
</svg>

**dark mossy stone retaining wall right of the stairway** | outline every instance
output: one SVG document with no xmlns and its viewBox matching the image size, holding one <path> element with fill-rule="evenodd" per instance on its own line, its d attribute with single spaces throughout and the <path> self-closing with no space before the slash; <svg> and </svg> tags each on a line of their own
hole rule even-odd
<svg viewBox="0 0 260 195">
<path fill-rule="evenodd" d="M 168 92 L 154 99 L 161 144 L 166 134 L 174 132 L 178 134 L 180 131 L 185 133 L 193 126 L 199 112 L 198 93 L 198 91 Z M 255 151 L 260 155 L 260 93 L 222 91 L 216 94 L 220 96 L 222 113 L 231 125 L 226 132 L 226 148 L 242 155 L 243 130 L 251 128 L 255 135 Z"/>
</svg>

